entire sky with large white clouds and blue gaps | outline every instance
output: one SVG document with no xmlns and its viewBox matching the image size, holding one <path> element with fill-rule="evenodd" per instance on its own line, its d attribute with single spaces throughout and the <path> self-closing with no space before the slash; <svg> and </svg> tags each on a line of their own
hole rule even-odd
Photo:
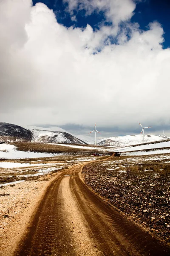
<svg viewBox="0 0 170 256">
<path fill-rule="evenodd" d="M 0 122 L 170 136 L 169 0 L 0 0 Z"/>
</svg>

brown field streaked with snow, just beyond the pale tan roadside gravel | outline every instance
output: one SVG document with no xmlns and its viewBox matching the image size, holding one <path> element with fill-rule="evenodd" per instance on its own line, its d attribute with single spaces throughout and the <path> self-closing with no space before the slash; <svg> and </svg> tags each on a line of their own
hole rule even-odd
<svg viewBox="0 0 170 256">
<path fill-rule="evenodd" d="M 68 158 L 67 158 L 68 157 Z M 17 181 L 17 183 L 23 182 L 23 180 L 27 180 L 29 178 L 40 177 L 43 175 L 51 174 L 52 172 L 58 172 L 61 169 L 69 168 L 72 164 L 76 164 L 79 162 L 87 162 L 91 160 L 98 159 L 98 156 L 82 156 L 79 155 L 68 155 L 65 157 L 65 161 L 63 158 L 60 161 L 60 157 L 56 158 L 55 161 L 50 158 L 41 159 L 41 163 L 37 162 L 37 160 L 22 160 L 23 163 L 20 163 L 20 160 L 8 160 L 7 162 L 0 162 L 0 187 L 13 185 Z M 70 160 L 71 159 L 71 160 Z M 8 179 L 8 183 L 6 183 Z M 9 182 L 10 181 L 10 182 Z"/>
</svg>

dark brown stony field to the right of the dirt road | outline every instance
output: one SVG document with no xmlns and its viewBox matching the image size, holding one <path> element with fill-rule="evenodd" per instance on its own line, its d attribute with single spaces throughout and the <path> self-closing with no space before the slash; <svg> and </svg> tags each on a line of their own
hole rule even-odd
<svg viewBox="0 0 170 256">
<path fill-rule="evenodd" d="M 115 157 L 105 164 L 88 164 L 82 173 L 85 183 L 95 192 L 170 244 L 170 163 L 167 160 L 159 157 L 155 160 L 155 156 Z"/>
</svg>

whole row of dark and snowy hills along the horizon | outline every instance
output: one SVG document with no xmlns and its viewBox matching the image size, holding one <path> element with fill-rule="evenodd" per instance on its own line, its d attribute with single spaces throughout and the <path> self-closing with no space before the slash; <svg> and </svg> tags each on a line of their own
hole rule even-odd
<svg viewBox="0 0 170 256">
<path fill-rule="evenodd" d="M 59 131 L 54 131 L 54 130 Z M 42 142 L 42 143 L 65 143 L 65 144 L 94 144 L 91 138 L 91 142 L 88 141 L 88 136 L 74 135 L 62 128 L 51 127 L 42 128 L 37 126 L 19 126 L 6 122 L 0 122 L 0 137 L 1 140 L 8 142 L 25 141 L 25 142 Z M 84 138 L 84 140 L 83 140 Z M 155 135 L 144 135 L 144 142 L 154 142 L 163 140 L 164 138 Z M 143 143 L 143 135 L 126 135 L 119 137 L 109 137 L 101 139 L 97 142 L 97 145 L 108 146 L 130 146 L 139 145 Z"/>
</svg>

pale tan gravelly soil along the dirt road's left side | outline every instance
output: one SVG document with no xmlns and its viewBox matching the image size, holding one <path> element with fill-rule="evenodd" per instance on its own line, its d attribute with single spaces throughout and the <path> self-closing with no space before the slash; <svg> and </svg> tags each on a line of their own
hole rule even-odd
<svg viewBox="0 0 170 256">
<path fill-rule="evenodd" d="M 46 175 L 0 188 L 0 256 L 12 256 L 47 186 L 56 177 Z"/>
</svg>

